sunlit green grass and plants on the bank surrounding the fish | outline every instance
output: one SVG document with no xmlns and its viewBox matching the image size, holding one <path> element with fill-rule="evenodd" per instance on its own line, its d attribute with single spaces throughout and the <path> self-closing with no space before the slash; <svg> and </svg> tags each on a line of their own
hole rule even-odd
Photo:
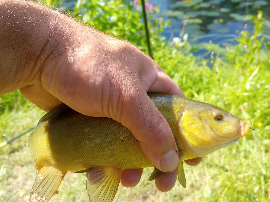
<svg viewBox="0 0 270 202">
<path fill-rule="evenodd" d="M 147 180 L 151 173 L 151 168 L 147 168 L 138 186 L 125 188 L 120 185 L 115 201 L 270 201 L 270 46 L 261 37 L 264 19 L 259 14 L 252 20 L 254 33 L 241 33 L 236 39 L 239 44 L 229 47 L 225 55 L 220 55 L 209 44 L 210 53 L 217 54 L 209 60 L 194 57 L 188 41 L 168 45 L 158 32 L 153 36 L 152 47 L 155 60 L 187 97 L 226 109 L 249 123 L 255 131 L 249 131 L 236 144 L 205 156 L 198 166 L 185 164 L 186 189 L 177 182 L 169 192 L 158 191 L 154 182 Z M 113 28 L 113 32 L 124 37 L 122 28 Z M 110 29 L 108 33 L 112 32 Z M 131 34 L 138 34 L 131 42 L 146 50 L 145 44 L 138 41 L 142 34 Z M 0 135 L 6 134 L 6 140 L 35 126 L 45 114 L 19 91 L 2 96 L 0 101 Z M 1 142 L 3 138 L 1 136 Z M 27 135 L 0 149 L 0 201 L 29 199 L 36 171 L 26 142 Z M 59 187 L 59 194 L 50 201 L 88 201 L 86 176 L 68 173 Z"/>
</svg>

